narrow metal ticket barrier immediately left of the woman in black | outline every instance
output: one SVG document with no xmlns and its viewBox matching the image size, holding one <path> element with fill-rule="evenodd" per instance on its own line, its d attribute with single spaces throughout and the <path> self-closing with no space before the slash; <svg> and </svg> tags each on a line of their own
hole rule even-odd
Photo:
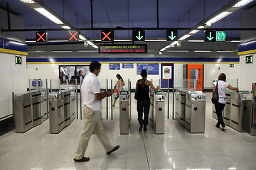
<svg viewBox="0 0 256 170">
<path fill-rule="evenodd" d="M 120 134 L 129 134 L 129 91 L 122 90 L 119 94 L 119 126 Z"/>
</svg>

